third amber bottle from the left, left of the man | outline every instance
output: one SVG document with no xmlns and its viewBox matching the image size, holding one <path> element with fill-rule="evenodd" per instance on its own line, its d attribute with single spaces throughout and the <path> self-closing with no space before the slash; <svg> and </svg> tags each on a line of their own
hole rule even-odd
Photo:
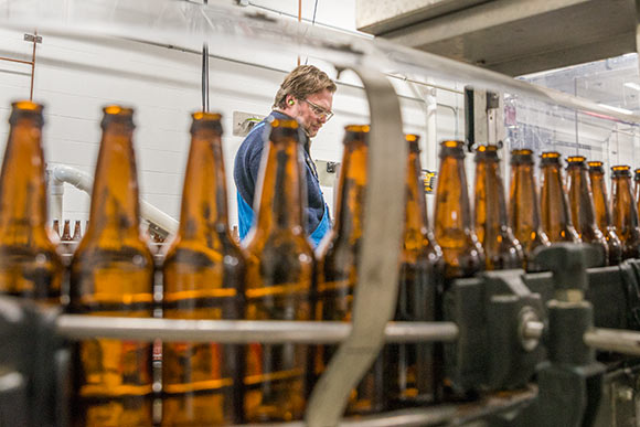
<svg viewBox="0 0 640 427">
<path fill-rule="evenodd" d="M 245 260 L 233 241 L 218 114 L 195 113 L 178 234 L 163 265 L 163 317 L 237 319 Z M 235 418 L 235 346 L 164 343 L 162 425 L 214 426 Z"/>
</svg>

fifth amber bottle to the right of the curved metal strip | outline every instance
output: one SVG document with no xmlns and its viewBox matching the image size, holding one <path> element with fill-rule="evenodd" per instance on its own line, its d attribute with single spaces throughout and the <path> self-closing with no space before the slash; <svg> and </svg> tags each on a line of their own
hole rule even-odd
<svg viewBox="0 0 640 427">
<path fill-rule="evenodd" d="M 561 154 L 555 151 L 542 153 L 542 228 L 553 242 L 579 243 L 580 237 L 574 228 L 565 192 Z"/>
</svg>

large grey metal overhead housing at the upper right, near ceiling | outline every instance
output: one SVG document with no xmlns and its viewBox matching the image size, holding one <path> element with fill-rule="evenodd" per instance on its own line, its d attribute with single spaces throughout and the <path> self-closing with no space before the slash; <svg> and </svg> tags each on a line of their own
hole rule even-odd
<svg viewBox="0 0 640 427">
<path fill-rule="evenodd" d="M 447 1 L 409 2 L 414 7 L 422 3 L 435 8 L 437 3 Z M 407 22 L 401 8 L 391 9 L 396 11 L 396 17 L 390 18 L 371 1 L 360 0 L 356 19 L 362 31 L 509 75 L 636 52 L 633 0 L 493 0 L 469 3 L 447 14 L 425 14 L 419 22 L 415 19 Z M 372 13 L 377 14 L 377 22 L 365 19 Z"/>
</svg>

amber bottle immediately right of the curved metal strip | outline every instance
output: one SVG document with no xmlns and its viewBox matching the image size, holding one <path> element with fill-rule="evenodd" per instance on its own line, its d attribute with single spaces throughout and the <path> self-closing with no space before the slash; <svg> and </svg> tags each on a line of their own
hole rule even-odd
<svg viewBox="0 0 640 427">
<path fill-rule="evenodd" d="M 407 135 L 409 146 L 406 207 L 394 320 L 435 321 L 436 296 L 442 287 L 442 252 L 429 231 L 418 137 Z M 442 367 L 435 346 L 388 344 L 384 350 L 387 408 L 430 403 L 440 398 Z"/>
</svg>

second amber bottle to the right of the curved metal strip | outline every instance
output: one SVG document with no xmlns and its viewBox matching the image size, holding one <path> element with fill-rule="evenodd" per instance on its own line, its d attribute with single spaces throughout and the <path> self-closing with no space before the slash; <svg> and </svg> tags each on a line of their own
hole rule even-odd
<svg viewBox="0 0 640 427">
<path fill-rule="evenodd" d="M 472 228 L 462 141 L 440 143 L 436 189 L 436 242 L 445 258 L 445 278 L 468 277 L 484 269 L 484 250 Z"/>
</svg>

